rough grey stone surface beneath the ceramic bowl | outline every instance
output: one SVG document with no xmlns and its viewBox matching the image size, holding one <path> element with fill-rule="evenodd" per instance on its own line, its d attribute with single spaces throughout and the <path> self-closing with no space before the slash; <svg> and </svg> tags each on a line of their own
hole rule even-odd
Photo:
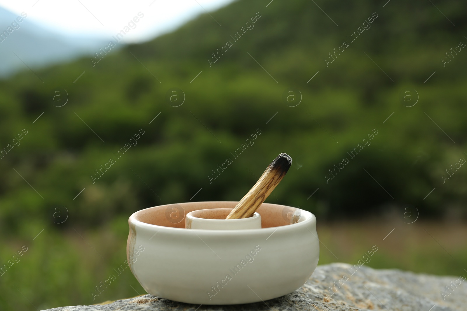
<svg viewBox="0 0 467 311">
<path fill-rule="evenodd" d="M 144 295 L 110 304 L 60 307 L 49 311 L 467 310 L 467 281 L 460 281 L 460 276 L 430 276 L 358 265 L 355 266 L 358 269 L 353 267 L 345 263 L 318 266 L 299 290 L 255 304 L 199 306 Z M 334 290 L 329 289 L 334 282 Z M 456 283 L 460 285 L 456 287 Z M 451 286 L 451 292 L 446 290 L 446 286 Z"/>
</svg>

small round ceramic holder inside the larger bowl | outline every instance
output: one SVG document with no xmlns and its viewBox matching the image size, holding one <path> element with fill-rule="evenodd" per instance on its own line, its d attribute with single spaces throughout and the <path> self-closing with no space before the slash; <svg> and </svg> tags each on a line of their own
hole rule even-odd
<svg viewBox="0 0 467 311">
<path fill-rule="evenodd" d="M 210 230 L 261 229 L 261 215 L 248 218 L 226 219 L 233 208 L 198 209 L 186 214 L 185 228 Z"/>
</svg>

